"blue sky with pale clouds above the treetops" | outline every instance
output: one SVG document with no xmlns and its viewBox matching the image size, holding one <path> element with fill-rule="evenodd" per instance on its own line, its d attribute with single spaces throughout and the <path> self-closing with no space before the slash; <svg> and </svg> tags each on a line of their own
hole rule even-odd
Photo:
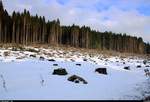
<svg viewBox="0 0 150 102">
<path fill-rule="evenodd" d="M 9 14 L 25 8 L 61 25 L 86 25 L 143 37 L 150 42 L 150 0 L 3 0 Z"/>
</svg>

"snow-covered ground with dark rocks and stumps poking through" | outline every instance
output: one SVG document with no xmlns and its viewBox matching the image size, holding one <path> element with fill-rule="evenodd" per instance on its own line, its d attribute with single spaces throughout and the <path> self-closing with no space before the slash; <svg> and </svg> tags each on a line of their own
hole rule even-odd
<svg viewBox="0 0 150 102">
<path fill-rule="evenodd" d="M 101 54 L 52 48 L 26 49 L 12 51 L 12 48 L 0 48 L 1 100 L 140 100 L 150 95 L 150 78 L 144 72 L 144 69 L 150 70 L 150 63 L 143 64 L 145 59 L 105 58 Z M 124 69 L 126 66 L 130 70 Z M 52 75 L 57 68 L 65 68 L 68 74 Z M 108 75 L 96 73 L 96 68 L 107 68 Z M 68 77 L 74 74 L 84 78 L 88 84 L 68 81 Z"/>
</svg>

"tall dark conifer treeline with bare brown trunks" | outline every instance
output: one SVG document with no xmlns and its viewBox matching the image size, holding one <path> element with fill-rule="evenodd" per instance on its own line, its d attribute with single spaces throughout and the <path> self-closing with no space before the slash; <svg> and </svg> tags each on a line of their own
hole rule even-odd
<svg viewBox="0 0 150 102">
<path fill-rule="evenodd" d="M 69 45 L 72 47 L 150 54 L 150 44 L 141 37 L 98 32 L 90 27 L 60 26 L 59 19 L 45 21 L 29 11 L 10 16 L 0 1 L 0 43 Z"/>
</svg>

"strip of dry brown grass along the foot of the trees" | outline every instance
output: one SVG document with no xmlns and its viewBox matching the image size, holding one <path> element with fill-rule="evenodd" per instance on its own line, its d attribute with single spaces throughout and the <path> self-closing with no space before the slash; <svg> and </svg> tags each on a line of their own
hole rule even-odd
<svg viewBox="0 0 150 102">
<path fill-rule="evenodd" d="M 103 54 L 105 58 L 110 56 L 120 56 L 120 58 L 126 58 L 128 56 L 136 56 L 140 58 L 150 58 L 150 55 L 146 54 L 136 54 L 136 53 L 127 53 L 127 52 L 116 52 L 116 51 L 108 51 L 108 50 L 100 50 L 100 49 L 87 49 L 87 48 L 75 48 L 67 45 L 49 45 L 49 44 L 30 44 L 28 46 L 32 46 L 35 48 L 45 48 L 45 49 L 54 49 L 54 50 L 64 50 L 66 52 L 80 52 L 84 55 L 90 54 L 91 56 L 97 55 L 97 54 Z M 14 47 L 18 48 L 19 50 L 24 50 L 26 46 L 23 46 L 21 44 L 0 44 L 1 48 L 9 48 Z"/>
</svg>

